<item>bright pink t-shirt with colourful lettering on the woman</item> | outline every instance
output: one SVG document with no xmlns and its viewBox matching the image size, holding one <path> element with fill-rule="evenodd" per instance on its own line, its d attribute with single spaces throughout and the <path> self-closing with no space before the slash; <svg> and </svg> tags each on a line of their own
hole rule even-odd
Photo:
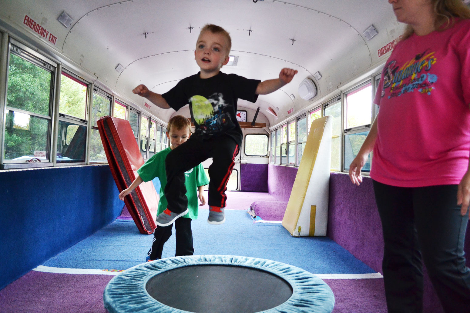
<svg viewBox="0 0 470 313">
<path fill-rule="evenodd" d="M 470 20 L 399 42 L 374 102 L 372 179 L 398 187 L 460 183 L 470 150 Z"/>
</svg>

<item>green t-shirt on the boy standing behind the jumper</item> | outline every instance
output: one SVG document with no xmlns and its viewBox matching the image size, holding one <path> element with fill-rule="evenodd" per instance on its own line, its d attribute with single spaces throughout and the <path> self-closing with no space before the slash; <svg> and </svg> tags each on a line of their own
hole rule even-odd
<svg viewBox="0 0 470 313">
<path fill-rule="evenodd" d="M 143 181 L 153 180 L 158 177 L 160 180 L 160 201 L 158 202 L 157 214 L 163 212 L 168 202 L 164 195 L 164 189 L 166 186 L 166 171 L 165 171 L 165 158 L 170 153 L 172 149 L 170 147 L 158 152 L 153 155 L 145 164 L 137 170 L 137 173 Z M 197 197 L 197 187 L 204 186 L 209 183 L 207 176 L 204 172 L 204 167 L 202 164 L 197 165 L 196 167 L 190 169 L 188 172 L 184 173 L 186 177 L 186 196 L 188 197 L 188 209 L 189 212 L 186 214 L 185 218 L 197 219 L 197 213 L 199 208 L 199 199 Z"/>
</svg>

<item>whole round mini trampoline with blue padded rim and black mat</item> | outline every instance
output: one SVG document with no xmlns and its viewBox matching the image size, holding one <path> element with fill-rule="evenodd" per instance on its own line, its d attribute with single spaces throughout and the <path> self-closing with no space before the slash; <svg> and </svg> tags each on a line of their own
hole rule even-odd
<svg viewBox="0 0 470 313">
<path fill-rule="evenodd" d="M 109 313 L 330 313 L 335 298 L 312 273 L 237 256 L 185 256 L 142 263 L 103 294 Z"/>
</svg>

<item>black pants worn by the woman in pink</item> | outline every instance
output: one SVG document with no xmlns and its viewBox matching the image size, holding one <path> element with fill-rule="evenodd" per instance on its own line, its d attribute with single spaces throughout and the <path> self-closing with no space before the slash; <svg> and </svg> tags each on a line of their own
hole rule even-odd
<svg viewBox="0 0 470 313">
<path fill-rule="evenodd" d="M 469 313 L 470 269 L 463 256 L 469 213 L 460 214 L 457 185 L 373 183 L 384 232 L 388 312 L 423 311 L 423 260 L 445 312 Z"/>
</svg>

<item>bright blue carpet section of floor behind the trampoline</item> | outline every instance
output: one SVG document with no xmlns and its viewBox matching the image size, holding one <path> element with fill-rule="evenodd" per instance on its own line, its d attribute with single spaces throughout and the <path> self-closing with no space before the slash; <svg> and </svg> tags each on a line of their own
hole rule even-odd
<svg viewBox="0 0 470 313">
<path fill-rule="evenodd" d="M 280 224 L 253 224 L 245 211 L 227 210 L 223 225 L 209 225 L 207 209 L 193 220 L 195 254 L 266 258 L 298 266 L 314 274 L 375 273 L 328 237 L 292 237 Z M 174 232 L 174 228 L 173 228 Z M 73 247 L 47 260 L 44 266 L 127 269 L 145 261 L 153 235 L 141 235 L 133 221 L 116 220 Z M 174 235 L 163 257 L 174 256 Z"/>
</svg>

